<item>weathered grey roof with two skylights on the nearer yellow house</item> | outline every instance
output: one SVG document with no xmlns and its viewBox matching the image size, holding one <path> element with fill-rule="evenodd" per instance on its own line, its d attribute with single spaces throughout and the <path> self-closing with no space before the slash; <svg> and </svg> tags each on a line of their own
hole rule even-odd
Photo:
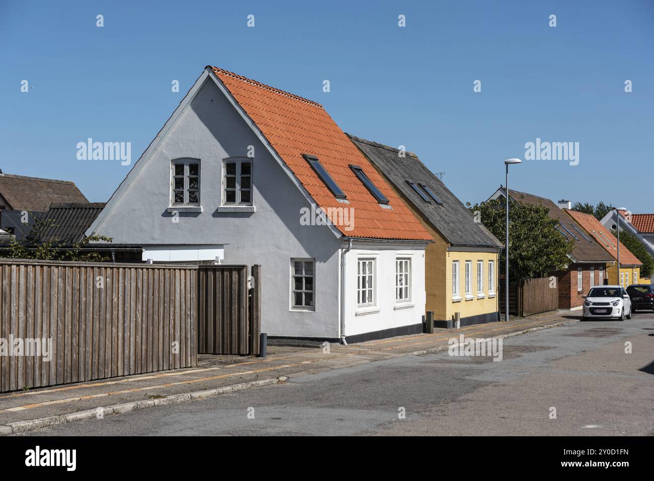
<svg viewBox="0 0 654 481">
<path fill-rule="evenodd" d="M 504 246 L 486 227 L 474 222 L 472 212 L 445 187 L 418 156 L 406 152 L 405 157 L 400 158 L 400 151 L 396 148 L 347 135 L 373 165 L 385 174 L 396 190 L 411 201 L 413 208 L 421 212 L 423 220 L 431 224 L 452 246 Z M 430 204 L 424 202 L 407 184 L 407 180 L 429 186 L 443 201 L 443 205 L 434 201 Z"/>
</svg>

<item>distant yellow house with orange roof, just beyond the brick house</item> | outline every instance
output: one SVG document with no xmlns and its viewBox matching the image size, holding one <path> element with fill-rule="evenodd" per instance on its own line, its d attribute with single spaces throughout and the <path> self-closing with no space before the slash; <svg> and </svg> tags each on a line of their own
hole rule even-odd
<svg viewBox="0 0 654 481">
<path fill-rule="evenodd" d="M 615 259 L 615 263 L 606 268 L 606 276 L 609 284 L 613 286 L 623 286 L 626 289 L 630 284 L 638 284 L 641 282 L 640 268 L 643 263 L 638 260 L 638 257 L 634 256 L 634 254 L 632 254 L 622 242 L 620 242 L 620 271 L 618 274 L 618 242 L 613 234 L 611 234 L 611 231 L 604 227 L 600 221 L 590 214 L 585 214 L 584 212 L 579 212 L 577 210 L 564 210 L 568 212 L 568 214 L 570 214 L 570 216 L 572 216 L 581 227 L 591 233 L 600 246 L 602 246 L 606 252 L 611 254 L 613 259 Z"/>
</svg>

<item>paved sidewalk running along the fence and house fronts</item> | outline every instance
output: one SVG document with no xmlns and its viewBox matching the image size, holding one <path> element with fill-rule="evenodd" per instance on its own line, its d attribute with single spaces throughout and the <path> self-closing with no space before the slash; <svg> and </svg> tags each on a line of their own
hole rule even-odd
<svg viewBox="0 0 654 481">
<path fill-rule="evenodd" d="M 200 355 L 198 366 L 194 368 L 0 394 L 0 435 L 201 399 L 391 357 L 438 352 L 447 349 L 447 341 L 458 338 L 460 334 L 466 337 L 506 337 L 571 320 L 578 320 L 574 312 L 549 312 L 509 322 L 438 329 L 434 334 L 394 337 L 349 346 L 330 344 L 329 352 L 323 352 L 322 348 L 269 346 L 266 359 Z"/>
</svg>

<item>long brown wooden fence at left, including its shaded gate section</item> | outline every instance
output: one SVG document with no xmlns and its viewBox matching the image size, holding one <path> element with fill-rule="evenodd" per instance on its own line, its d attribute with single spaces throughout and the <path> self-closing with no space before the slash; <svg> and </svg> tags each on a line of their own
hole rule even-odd
<svg viewBox="0 0 654 481">
<path fill-rule="evenodd" d="M 0 392 L 192 367 L 199 345 L 258 354 L 260 269 L 248 290 L 246 266 L 0 260 Z"/>
</svg>

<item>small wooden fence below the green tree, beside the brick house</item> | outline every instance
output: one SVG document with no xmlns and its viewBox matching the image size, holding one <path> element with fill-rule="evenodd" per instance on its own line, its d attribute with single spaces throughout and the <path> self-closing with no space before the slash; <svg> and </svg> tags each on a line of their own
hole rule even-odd
<svg viewBox="0 0 654 481">
<path fill-rule="evenodd" d="M 504 284 L 502 284 L 504 287 Z M 500 292 L 500 311 L 504 314 L 504 289 Z M 509 314 L 531 316 L 559 308 L 559 286 L 551 286 L 547 277 L 528 279 L 517 288 L 509 285 Z"/>
</svg>

